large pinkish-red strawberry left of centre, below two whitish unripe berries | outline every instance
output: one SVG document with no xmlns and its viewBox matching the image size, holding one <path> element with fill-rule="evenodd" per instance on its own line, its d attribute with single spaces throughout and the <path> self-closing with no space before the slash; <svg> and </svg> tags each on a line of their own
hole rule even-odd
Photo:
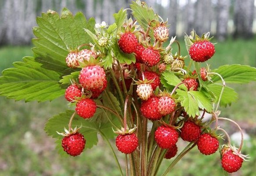
<svg viewBox="0 0 256 176">
<path fill-rule="evenodd" d="M 86 66 L 82 68 L 78 79 L 86 90 L 101 89 L 106 81 L 106 74 L 100 66 Z"/>
</svg>

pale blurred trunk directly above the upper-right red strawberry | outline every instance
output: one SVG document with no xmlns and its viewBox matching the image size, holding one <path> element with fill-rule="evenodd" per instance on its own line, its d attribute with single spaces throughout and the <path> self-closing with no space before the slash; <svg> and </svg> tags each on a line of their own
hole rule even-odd
<svg viewBox="0 0 256 176">
<path fill-rule="evenodd" d="M 211 30 L 212 6 L 211 0 L 197 0 L 195 14 L 195 30 L 200 36 Z"/>
</svg>

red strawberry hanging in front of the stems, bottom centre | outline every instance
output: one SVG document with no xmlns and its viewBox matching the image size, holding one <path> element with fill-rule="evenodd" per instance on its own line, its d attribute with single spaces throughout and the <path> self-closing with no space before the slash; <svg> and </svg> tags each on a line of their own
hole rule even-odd
<svg viewBox="0 0 256 176">
<path fill-rule="evenodd" d="M 124 154 L 130 154 L 138 147 L 138 138 L 134 133 L 119 134 L 115 139 L 115 145 Z"/>
</svg>

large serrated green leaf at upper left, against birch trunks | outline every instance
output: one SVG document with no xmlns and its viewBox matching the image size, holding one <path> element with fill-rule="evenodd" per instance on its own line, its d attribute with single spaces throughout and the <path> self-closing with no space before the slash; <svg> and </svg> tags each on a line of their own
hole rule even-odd
<svg viewBox="0 0 256 176">
<path fill-rule="evenodd" d="M 33 52 L 39 56 L 41 62 L 48 70 L 63 71 L 67 69 L 65 58 L 69 51 L 81 44 L 92 41 L 85 33 L 85 29 L 94 31 L 95 20 L 88 21 L 82 12 L 75 16 L 63 8 L 61 16 L 56 11 L 48 11 L 37 18 L 38 27 L 33 28 L 35 39 L 32 40 L 35 48 Z"/>
</svg>

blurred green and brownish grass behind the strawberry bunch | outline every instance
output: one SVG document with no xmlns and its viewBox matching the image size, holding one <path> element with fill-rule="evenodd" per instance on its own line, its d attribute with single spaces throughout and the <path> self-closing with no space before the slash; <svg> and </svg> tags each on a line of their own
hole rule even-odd
<svg viewBox="0 0 256 176">
<path fill-rule="evenodd" d="M 182 55 L 187 55 L 185 44 L 181 39 Z M 215 42 L 215 41 L 214 41 Z M 224 64 L 245 64 L 256 66 L 256 38 L 251 40 L 226 40 L 215 45 L 216 53 L 208 63 L 211 69 Z M 174 51 L 177 51 L 174 46 Z M 30 47 L 5 46 L 0 48 L 0 72 L 11 67 L 12 62 L 22 61 L 22 57 L 33 55 Z M 256 83 L 229 85 L 239 93 L 237 103 L 222 108 L 222 117 L 236 120 L 250 139 L 245 141 L 242 152 L 250 154 L 250 162 L 244 162 L 242 169 L 232 176 L 255 176 L 256 162 Z M 15 102 L 0 96 L 0 176 L 119 176 L 119 171 L 112 159 L 111 151 L 102 139 L 93 149 L 85 150 L 80 156 L 60 157 L 54 140 L 46 136 L 44 124 L 49 117 L 68 108 L 63 97 L 50 102 L 24 103 Z M 236 127 L 223 123 L 230 134 Z M 113 145 L 114 140 L 112 141 Z M 185 143 L 178 142 L 178 152 Z M 115 148 L 115 147 L 114 147 Z M 121 165 L 123 155 L 119 152 Z M 174 167 L 169 176 L 221 176 L 224 175 L 220 164 L 220 155 L 200 154 L 193 149 Z M 163 173 L 170 160 L 163 162 Z"/>
</svg>

